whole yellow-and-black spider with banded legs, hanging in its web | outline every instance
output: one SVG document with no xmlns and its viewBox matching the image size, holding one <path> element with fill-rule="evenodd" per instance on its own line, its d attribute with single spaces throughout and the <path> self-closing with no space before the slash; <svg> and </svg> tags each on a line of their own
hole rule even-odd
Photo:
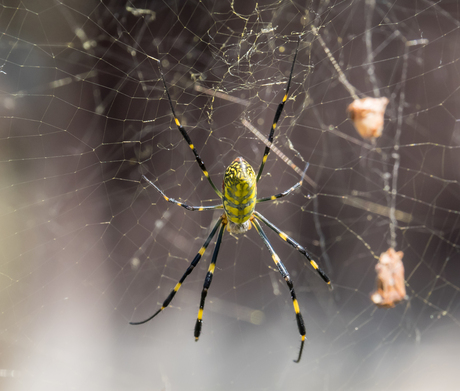
<svg viewBox="0 0 460 391">
<path fill-rule="evenodd" d="M 273 135 L 275 133 L 276 129 L 276 124 L 278 123 L 278 120 L 281 116 L 281 113 L 283 112 L 284 104 L 286 103 L 286 100 L 288 98 L 288 93 L 289 93 L 289 87 L 291 84 L 291 79 L 292 79 L 292 74 L 294 72 L 294 65 L 296 62 L 297 58 L 297 53 L 299 50 L 299 44 L 300 44 L 300 37 L 297 42 L 297 48 L 294 54 L 294 59 L 292 61 L 291 65 L 291 72 L 289 74 L 289 79 L 287 82 L 286 86 L 286 92 L 284 94 L 283 100 L 278 104 L 278 108 L 275 113 L 275 117 L 273 119 L 273 124 L 270 130 L 270 135 L 268 136 L 268 140 L 270 143 L 273 141 Z M 224 213 L 219 217 L 217 222 L 214 224 L 214 227 L 211 230 L 211 233 L 205 240 L 204 244 L 198 251 L 198 254 L 195 256 L 179 282 L 175 285 L 174 289 L 171 291 L 169 296 L 166 298 L 166 300 L 163 302 L 161 308 L 156 311 L 152 316 L 149 318 L 140 321 L 140 322 L 130 322 L 132 325 L 140 325 L 144 324 L 151 319 L 153 319 L 155 316 L 157 316 L 161 311 L 163 311 L 166 307 L 169 306 L 171 301 L 173 300 L 174 296 L 176 293 L 179 291 L 180 287 L 182 286 L 183 282 L 187 278 L 187 276 L 193 271 L 193 269 L 197 266 L 198 262 L 200 261 L 201 257 L 203 256 L 204 252 L 206 251 L 209 243 L 211 240 L 214 238 L 216 235 L 217 231 L 219 233 L 217 234 L 217 241 L 216 245 L 214 247 L 214 253 L 212 255 L 212 260 L 208 268 L 208 272 L 206 274 L 206 278 L 204 281 L 203 285 L 203 290 L 201 292 L 201 300 L 200 300 L 200 308 L 198 310 L 198 316 L 197 320 L 195 323 L 195 340 L 198 341 L 200 334 L 201 334 L 201 328 L 203 325 L 203 310 L 204 310 L 204 305 L 205 305 L 205 300 L 206 300 L 206 295 L 208 293 L 208 289 L 211 286 L 212 282 L 212 277 L 214 275 L 214 270 L 216 268 L 216 261 L 217 261 L 217 255 L 219 253 L 219 248 L 220 244 L 222 242 L 222 237 L 224 234 L 225 228 L 232 233 L 232 234 L 242 234 L 247 232 L 249 229 L 251 229 L 251 226 L 254 226 L 255 230 L 257 233 L 260 235 L 262 241 L 264 242 L 265 246 L 268 248 L 268 251 L 271 254 L 271 257 L 273 261 L 275 262 L 278 271 L 281 274 L 281 277 L 286 281 L 286 284 L 289 288 L 289 292 L 291 293 L 291 299 L 292 299 L 292 304 L 294 306 L 294 311 L 296 314 L 296 320 L 297 320 L 297 327 L 299 329 L 299 333 L 301 336 L 301 344 L 300 344 L 300 349 L 299 349 L 299 355 L 297 357 L 297 360 L 294 360 L 294 362 L 299 362 L 301 357 L 302 357 L 302 351 L 305 343 L 305 324 L 302 318 L 302 314 L 300 313 L 300 308 L 299 308 L 299 303 L 296 298 L 296 294 L 294 291 L 294 284 L 291 280 L 291 277 L 289 276 L 289 272 L 287 271 L 286 267 L 284 266 L 283 262 L 280 260 L 278 255 L 275 253 L 273 250 L 272 245 L 270 244 L 265 232 L 262 230 L 260 222 L 264 223 L 268 228 L 271 230 L 275 231 L 279 237 L 284 240 L 286 243 L 290 244 L 292 247 L 294 247 L 297 251 L 299 251 L 307 260 L 310 262 L 311 266 L 317 271 L 317 273 L 320 275 L 320 277 L 327 283 L 330 284 L 330 279 L 324 273 L 323 270 L 318 266 L 318 264 L 310 257 L 308 254 L 307 250 L 302 247 L 299 243 L 297 243 L 294 239 L 290 238 L 288 235 L 286 235 L 283 231 L 281 231 L 278 227 L 276 227 L 274 224 L 272 224 L 269 220 L 267 220 L 262 214 L 257 212 L 255 210 L 256 204 L 259 202 L 265 202 L 265 201 L 273 201 L 281 197 L 285 197 L 289 194 L 291 194 L 293 191 L 298 189 L 303 182 L 305 172 L 308 168 L 305 168 L 305 171 L 303 172 L 303 175 L 298 183 L 296 183 L 294 186 L 292 186 L 290 189 L 279 193 L 272 195 L 270 197 L 263 197 L 263 198 L 257 198 L 257 182 L 259 181 L 263 168 L 265 166 L 265 163 L 267 161 L 268 154 L 270 152 L 269 147 L 265 147 L 265 152 L 264 156 L 262 158 L 262 162 L 259 167 L 259 171 L 257 175 L 254 172 L 254 169 L 251 167 L 251 165 L 244 160 L 242 157 L 237 157 L 226 169 L 225 174 L 224 174 L 224 179 L 223 179 L 223 184 L 222 184 L 222 191 L 217 189 L 217 187 L 214 185 L 211 177 L 209 176 L 209 173 L 203 163 L 203 160 L 201 159 L 200 155 L 198 154 L 198 151 L 196 150 L 194 144 L 192 143 L 192 140 L 190 139 L 190 136 L 188 133 L 185 131 L 183 126 L 181 125 L 179 119 L 177 118 L 176 112 L 174 110 L 174 106 L 171 100 L 171 96 L 169 94 L 168 86 L 166 84 L 165 77 L 163 75 L 163 72 L 161 71 L 161 67 L 159 64 L 159 69 L 160 69 L 160 74 L 161 74 L 161 79 L 163 81 L 164 89 L 166 92 L 166 95 L 168 97 L 169 105 L 171 107 L 171 112 L 174 117 L 174 122 L 177 125 L 177 128 L 179 129 L 180 133 L 184 137 L 185 141 L 189 145 L 190 149 L 193 151 L 196 161 L 198 165 L 200 166 L 204 176 L 206 179 L 209 181 L 210 185 L 216 192 L 216 194 L 219 196 L 219 198 L 222 199 L 222 203 L 218 205 L 212 205 L 212 206 L 190 206 L 187 204 L 184 204 L 182 202 L 179 202 L 175 200 L 174 198 L 168 197 L 162 190 L 160 190 L 151 180 L 149 180 L 145 175 L 142 175 L 145 181 L 155 188 L 156 191 L 158 191 L 166 201 L 171 202 L 175 205 L 182 206 L 183 208 L 190 210 L 190 211 L 204 211 L 204 210 L 214 210 L 214 209 L 224 209 Z"/>
</svg>

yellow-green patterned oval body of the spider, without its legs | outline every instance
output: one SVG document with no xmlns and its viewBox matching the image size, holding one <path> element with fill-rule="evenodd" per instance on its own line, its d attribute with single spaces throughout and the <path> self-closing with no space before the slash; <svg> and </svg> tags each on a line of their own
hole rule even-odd
<svg viewBox="0 0 460 391">
<path fill-rule="evenodd" d="M 236 158 L 227 167 L 222 190 L 230 230 L 234 233 L 246 232 L 256 206 L 257 182 L 254 169 L 242 157 Z"/>
</svg>

